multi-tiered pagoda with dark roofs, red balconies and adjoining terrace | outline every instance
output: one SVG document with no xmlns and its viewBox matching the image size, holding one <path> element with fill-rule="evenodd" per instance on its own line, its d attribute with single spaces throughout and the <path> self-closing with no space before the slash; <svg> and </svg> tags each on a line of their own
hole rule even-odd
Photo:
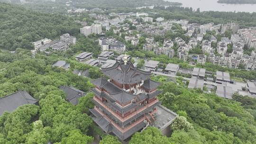
<svg viewBox="0 0 256 144">
<path fill-rule="evenodd" d="M 105 133 L 126 140 L 151 125 L 168 135 L 177 114 L 156 98 L 162 91 L 156 89 L 160 83 L 150 79 L 151 72 L 135 68 L 126 57 L 101 71 L 108 78 L 91 81 L 95 107 L 90 112 Z"/>
</svg>

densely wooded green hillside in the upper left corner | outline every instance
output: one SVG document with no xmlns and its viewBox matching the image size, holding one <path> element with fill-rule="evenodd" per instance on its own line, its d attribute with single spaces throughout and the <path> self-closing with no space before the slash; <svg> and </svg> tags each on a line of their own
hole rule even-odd
<svg viewBox="0 0 256 144">
<path fill-rule="evenodd" d="M 79 34 L 80 26 L 73 19 L 58 14 L 46 14 L 0 3 L 0 48 L 33 49 L 32 42 L 54 39 L 64 33 Z"/>
</svg>

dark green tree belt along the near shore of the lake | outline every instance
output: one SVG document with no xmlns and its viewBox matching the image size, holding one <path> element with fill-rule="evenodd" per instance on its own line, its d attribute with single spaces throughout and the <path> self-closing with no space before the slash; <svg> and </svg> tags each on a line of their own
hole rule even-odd
<svg viewBox="0 0 256 144">
<path fill-rule="evenodd" d="M 154 10 L 155 9 L 155 10 Z M 153 11 L 158 12 L 157 16 L 166 19 L 188 19 L 190 23 L 225 24 L 230 21 L 237 22 L 240 28 L 256 27 L 256 13 L 248 12 L 222 12 L 222 11 L 194 11 L 192 8 L 184 7 L 155 7 Z M 148 9 L 145 9 L 145 11 Z"/>
</svg>

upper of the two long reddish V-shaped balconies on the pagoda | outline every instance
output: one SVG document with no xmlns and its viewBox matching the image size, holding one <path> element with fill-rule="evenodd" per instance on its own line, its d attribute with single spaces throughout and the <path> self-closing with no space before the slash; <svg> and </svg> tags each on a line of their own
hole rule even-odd
<svg viewBox="0 0 256 144">
<path fill-rule="evenodd" d="M 112 108 L 108 107 L 104 102 L 102 102 L 101 99 L 99 99 L 97 97 L 93 97 L 93 100 L 96 101 L 102 108 L 105 108 L 108 112 L 111 113 L 111 115 L 116 117 L 121 122 L 125 122 L 128 119 L 137 116 L 142 111 L 146 110 L 147 108 L 150 108 L 151 106 L 153 106 L 153 105 L 155 105 L 156 103 L 159 102 L 158 99 L 152 99 L 146 105 L 141 105 L 141 106 L 138 107 L 138 109 L 136 111 L 130 113 L 129 115 L 127 115 L 125 117 L 122 117 L 119 113 L 115 112 Z"/>
</svg>

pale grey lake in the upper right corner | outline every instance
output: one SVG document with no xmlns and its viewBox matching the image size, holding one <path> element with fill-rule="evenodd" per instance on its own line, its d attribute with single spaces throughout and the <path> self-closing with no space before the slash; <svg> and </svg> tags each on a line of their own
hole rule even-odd
<svg viewBox="0 0 256 144">
<path fill-rule="evenodd" d="M 256 12 L 256 4 L 224 4 L 218 0 L 165 0 L 182 3 L 182 7 L 200 8 L 201 11 Z"/>
</svg>

